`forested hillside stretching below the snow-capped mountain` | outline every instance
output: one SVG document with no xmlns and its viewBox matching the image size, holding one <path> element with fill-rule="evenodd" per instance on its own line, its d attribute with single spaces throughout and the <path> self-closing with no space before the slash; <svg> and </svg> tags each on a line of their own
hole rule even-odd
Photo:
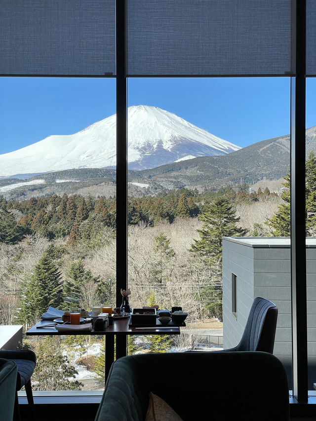
<svg viewBox="0 0 316 421">
<path fill-rule="evenodd" d="M 155 195 L 182 187 L 218 190 L 224 186 L 279 180 L 289 170 L 289 148 L 289 135 L 286 135 L 226 155 L 201 156 L 142 171 L 129 170 L 129 195 Z M 311 150 L 316 150 L 316 126 L 306 131 L 306 156 Z M 32 181 L 38 184 L 32 184 Z M 0 194 L 17 200 L 64 192 L 110 197 L 115 195 L 116 171 L 99 168 L 56 171 L 36 175 L 27 183 L 23 184 L 21 179 L 1 180 Z"/>
</svg>

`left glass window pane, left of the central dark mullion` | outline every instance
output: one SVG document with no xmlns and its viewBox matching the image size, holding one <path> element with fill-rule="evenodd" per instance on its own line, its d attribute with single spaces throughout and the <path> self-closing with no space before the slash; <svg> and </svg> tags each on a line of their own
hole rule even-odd
<svg viewBox="0 0 316 421">
<path fill-rule="evenodd" d="M 1 324 L 115 304 L 115 89 L 115 79 L 0 78 Z M 24 343 L 37 353 L 35 389 L 104 387 L 104 337 Z"/>
</svg>

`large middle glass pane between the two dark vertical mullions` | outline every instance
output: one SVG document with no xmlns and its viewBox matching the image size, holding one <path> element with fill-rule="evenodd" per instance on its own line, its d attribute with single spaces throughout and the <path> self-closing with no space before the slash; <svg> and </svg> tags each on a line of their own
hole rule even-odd
<svg viewBox="0 0 316 421">
<path fill-rule="evenodd" d="M 132 306 L 182 306 L 187 327 L 163 349 L 210 350 L 236 346 L 254 298 L 272 300 L 275 354 L 287 365 L 290 249 L 279 237 L 289 227 L 276 231 L 275 215 L 286 204 L 289 78 L 130 78 L 128 86 Z M 234 238 L 222 249 L 222 237 Z M 135 349 L 156 351 L 157 341 L 139 339 Z"/>
</svg>

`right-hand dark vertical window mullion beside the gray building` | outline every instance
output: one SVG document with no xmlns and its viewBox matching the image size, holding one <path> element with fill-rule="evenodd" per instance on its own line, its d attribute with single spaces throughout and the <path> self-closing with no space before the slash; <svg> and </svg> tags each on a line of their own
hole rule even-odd
<svg viewBox="0 0 316 421">
<path fill-rule="evenodd" d="M 293 396 L 308 401 L 305 215 L 306 1 L 296 2 L 296 77 L 291 80 L 291 278 Z"/>
</svg>

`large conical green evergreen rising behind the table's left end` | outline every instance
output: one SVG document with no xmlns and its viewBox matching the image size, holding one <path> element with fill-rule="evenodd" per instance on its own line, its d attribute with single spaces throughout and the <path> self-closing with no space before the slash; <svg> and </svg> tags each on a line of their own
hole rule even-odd
<svg viewBox="0 0 316 421">
<path fill-rule="evenodd" d="M 30 278 L 23 285 L 23 299 L 19 312 L 22 322 L 39 319 L 48 306 L 60 308 L 63 302 L 61 272 L 54 265 L 51 255 L 54 246 L 49 246 Z"/>
</svg>

